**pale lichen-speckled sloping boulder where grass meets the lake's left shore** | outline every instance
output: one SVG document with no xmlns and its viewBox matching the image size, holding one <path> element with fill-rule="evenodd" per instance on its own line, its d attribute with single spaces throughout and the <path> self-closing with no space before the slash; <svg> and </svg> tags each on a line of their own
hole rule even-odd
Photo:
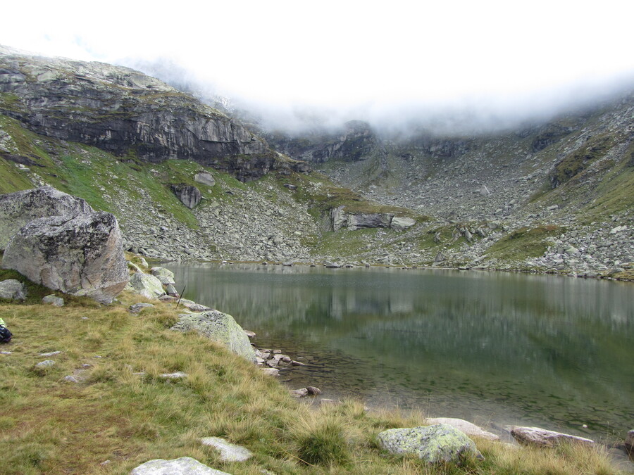
<svg viewBox="0 0 634 475">
<path fill-rule="evenodd" d="M 178 322 L 171 328 L 172 330 L 197 331 L 203 336 L 223 343 L 236 355 L 256 362 L 255 350 L 251 346 L 249 337 L 231 315 L 210 310 L 201 313 L 185 313 L 178 317 Z"/>
</svg>

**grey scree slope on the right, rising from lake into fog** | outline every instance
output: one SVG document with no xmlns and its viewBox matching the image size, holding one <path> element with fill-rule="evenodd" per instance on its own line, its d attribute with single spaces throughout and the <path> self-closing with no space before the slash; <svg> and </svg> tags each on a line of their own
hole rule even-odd
<svg viewBox="0 0 634 475">
<path fill-rule="evenodd" d="M 628 274 L 634 260 L 634 94 L 546 124 L 473 137 L 369 125 L 327 135 L 269 134 L 368 199 L 432 217 L 399 236 L 404 262 Z M 326 148 L 324 148 L 324 146 Z M 346 158 L 323 151 L 352 150 Z M 325 157 L 325 158 L 324 158 Z M 436 246 L 421 252 L 416 242 Z"/>
</svg>

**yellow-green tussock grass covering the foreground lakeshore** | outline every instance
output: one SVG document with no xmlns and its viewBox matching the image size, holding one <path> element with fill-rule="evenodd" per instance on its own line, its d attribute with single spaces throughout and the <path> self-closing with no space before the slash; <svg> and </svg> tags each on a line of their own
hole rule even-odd
<svg viewBox="0 0 634 475">
<path fill-rule="evenodd" d="M 66 297 L 66 296 L 65 296 Z M 605 454 L 574 446 L 509 449 L 477 441 L 485 461 L 429 467 L 390 457 L 380 431 L 424 423 L 420 412 L 368 412 L 358 401 L 311 407 L 251 363 L 197 334 L 170 331 L 173 304 L 0 304 L 14 333 L 0 355 L 0 474 L 128 474 L 154 458 L 194 457 L 231 474 L 609 474 Z M 39 353 L 62 353 L 42 357 Z M 42 372 L 35 364 L 56 365 Z M 82 365 L 89 365 L 83 367 Z M 161 374 L 182 371 L 187 378 Z M 80 380 L 69 383 L 64 376 Z M 254 452 L 220 462 L 199 439 L 220 436 Z M 110 460 L 106 465 L 101 462 Z"/>
</svg>

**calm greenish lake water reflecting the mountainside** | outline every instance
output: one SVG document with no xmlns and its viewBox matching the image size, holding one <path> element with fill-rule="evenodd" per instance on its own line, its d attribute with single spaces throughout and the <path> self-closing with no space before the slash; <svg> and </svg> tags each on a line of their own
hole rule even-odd
<svg viewBox="0 0 634 475">
<path fill-rule="evenodd" d="M 634 286 L 486 272 L 168 265 L 185 297 L 325 398 L 474 422 L 623 436 L 633 419 Z M 588 429 L 582 428 L 583 424 Z"/>
</svg>

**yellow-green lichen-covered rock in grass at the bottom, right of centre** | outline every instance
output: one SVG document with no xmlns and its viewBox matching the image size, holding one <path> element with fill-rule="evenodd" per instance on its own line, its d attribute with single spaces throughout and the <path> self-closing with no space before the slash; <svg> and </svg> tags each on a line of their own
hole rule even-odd
<svg viewBox="0 0 634 475">
<path fill-rule="evenodd" d="M 391 454 L 414 454 L 429 463 L 460 462 L 468 453 L 481 457 L 464 432 L 447 424 L 389 429 L 378 434 L 378 443 Z"/>
</svg>

